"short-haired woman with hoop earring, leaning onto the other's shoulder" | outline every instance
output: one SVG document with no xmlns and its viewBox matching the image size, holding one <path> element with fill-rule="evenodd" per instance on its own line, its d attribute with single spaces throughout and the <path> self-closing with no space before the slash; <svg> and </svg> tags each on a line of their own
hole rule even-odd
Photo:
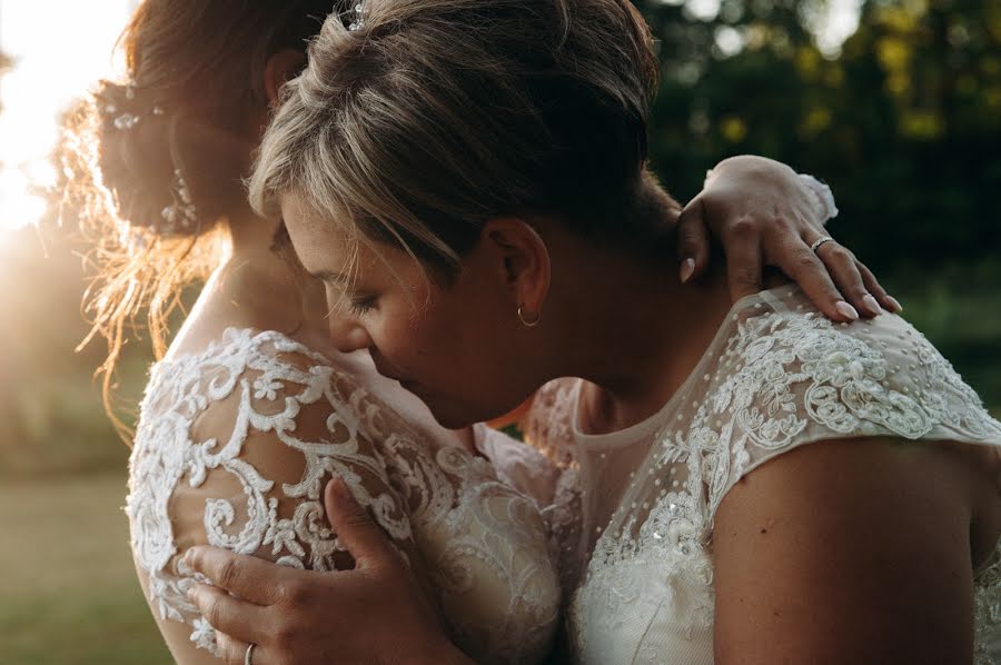
<svg viewBox="0 0 1001 665">
<path fill-rule="evenodd" d="M 354 29 L 328 19 L 289 83 L 251 201 L 350 305 L 330 338 L 439 423 L 561 381 L 531 434 L 567 451 L 554 508 L 575 662 L 997 662 L 1001 423 L 893 314 L 835 324 L 794 285 L 734 304 L 722 270 L 665 270 L 683 214 L 646 168 L 655 61 L 632 4 L 364 9 Z M 257 665 L 463 662 L 334 498 L 360 570 L 197 548 L 244 598 L 199 586 L 199 606 Z"/>
</svg>

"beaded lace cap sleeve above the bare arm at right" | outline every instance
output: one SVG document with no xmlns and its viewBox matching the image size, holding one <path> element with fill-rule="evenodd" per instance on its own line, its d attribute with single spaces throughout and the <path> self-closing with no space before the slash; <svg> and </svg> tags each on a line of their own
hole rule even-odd
<svg viewBox="0 0 1001 665">
<path fill-rule="evenodd" d="M 767 305 L 730 338 L 724 357 L 734 369 L 707 405 L 708 423 L 733 415 L 730 427 L 712 428 L 727 457 L 710 456 L 711 514 L 741 477 L 814 441 L 892 437 L 1001 450 L 1001 424 L 904 319 L 838 325 L 804 307 L 799 290 L 764 296 Z"/>
</svg>

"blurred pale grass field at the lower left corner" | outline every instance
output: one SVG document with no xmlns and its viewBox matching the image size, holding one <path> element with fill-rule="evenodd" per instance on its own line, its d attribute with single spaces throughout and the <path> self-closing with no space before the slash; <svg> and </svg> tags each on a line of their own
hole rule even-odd
<svg viewBox="0 0 1001 665">
<path fill-rule="evenodd" d="M 0 485 L 0 663 L 171 663 L 132 570 L 122 475 Z"/>
</svg>

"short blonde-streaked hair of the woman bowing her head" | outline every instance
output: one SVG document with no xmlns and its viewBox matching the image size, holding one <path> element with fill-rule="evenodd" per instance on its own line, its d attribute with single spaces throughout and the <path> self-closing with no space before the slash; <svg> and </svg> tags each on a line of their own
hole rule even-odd
<svg viewBox="0 0 1001 665">
<path fill-rule="evenodd" d="M 369 0 L 286 86 L 250 201 L 294 195 L 452 275 L 503 215 L 648 247 L 676 207 L 645 165 L 656 80 L 626 0 Z"/>
</svg>

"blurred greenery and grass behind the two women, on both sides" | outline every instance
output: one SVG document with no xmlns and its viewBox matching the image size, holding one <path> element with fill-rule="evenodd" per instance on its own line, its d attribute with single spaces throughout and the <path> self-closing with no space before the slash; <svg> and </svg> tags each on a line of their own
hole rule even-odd
<svg viewBox="0 0 1001 665">
<path fill-rule="evenodd" d="M 1001 3 L 848 1 L 843 43 L 822 0 L 641 2 L 664 63 L 655 167 L 681 198 L 743 152 L 826 180 L 832 234 L 999 415 Z M 167 663 L 119 509 L 128 448 L 92 380 L 103 349 L 73 351 L 86 248 L 51 219 L 0 230 L 0 663 Z M 147 339 L 121 364 L 123 413 Z"/>
</svg>

